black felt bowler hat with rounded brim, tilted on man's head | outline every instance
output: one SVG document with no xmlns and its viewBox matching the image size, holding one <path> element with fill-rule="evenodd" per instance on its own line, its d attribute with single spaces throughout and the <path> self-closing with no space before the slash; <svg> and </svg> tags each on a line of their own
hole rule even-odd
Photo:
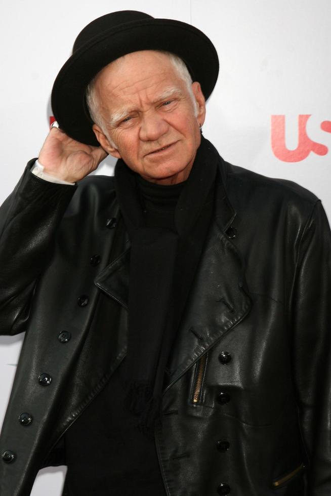
<svg viewBox="0 0 331 496">
<path fill-rule="evenodd" d="M 193 81 L 200 82 L 204 97 L 207 99 L 212 93 L 219 71 L 218 56 L 211 40 L 199 29 L 173 19 L 154 19 L 143 12 L 112 12 L 80 31 L 71 57 L 54 82 L 53 114 L 71 138 L 99 145 L 86 104 L 86 88 L 107 64 L 140 50 L 164 50 L 178 55 Z"/>
</svg>

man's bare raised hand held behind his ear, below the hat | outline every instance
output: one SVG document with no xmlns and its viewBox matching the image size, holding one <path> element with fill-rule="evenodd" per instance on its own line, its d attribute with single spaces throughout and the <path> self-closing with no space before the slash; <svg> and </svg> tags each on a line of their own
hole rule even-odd
<svg viewBox="0 0 331 496">
<path fill-rule="evenodd" d="M 47 174 L 75 183 L 95 171 L 106 156 L 101 146 L 79 143 L 53 127 L 40 150 L 38 160 Z"/>
</svg>

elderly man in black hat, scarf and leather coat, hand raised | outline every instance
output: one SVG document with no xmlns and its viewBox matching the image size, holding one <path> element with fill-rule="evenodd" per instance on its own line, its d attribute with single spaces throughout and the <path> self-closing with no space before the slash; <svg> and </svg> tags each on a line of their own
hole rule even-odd
<svg viewBox="0 0 331 496">
<path fill-rule="evenodd" d="M 26 331 L 2 496 L 61 464 L 67 496 L 331 493 L 327 220 L 201 136 L 217 73 L 178 21 L 78 35 L 2 207 L 1 330 Z"/>
</svg>

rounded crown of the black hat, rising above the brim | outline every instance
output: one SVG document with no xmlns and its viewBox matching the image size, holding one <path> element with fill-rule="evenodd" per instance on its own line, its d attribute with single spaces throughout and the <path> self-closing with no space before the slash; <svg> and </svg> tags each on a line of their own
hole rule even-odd
<svg viewBox="0 0 331 496">
<path fill-rule="evenodd" d="M 73 44 L 72 52 L 74 53 L 80 47 L 90 42 L 94 36 L 99 35 L 103 31 L 116 28 L 121 24 L 140 21 L 142 19 L 153 19 L 153 17 L 136 10 L 121 10 L 98 17 L 80 31 Z"/>
</svg>

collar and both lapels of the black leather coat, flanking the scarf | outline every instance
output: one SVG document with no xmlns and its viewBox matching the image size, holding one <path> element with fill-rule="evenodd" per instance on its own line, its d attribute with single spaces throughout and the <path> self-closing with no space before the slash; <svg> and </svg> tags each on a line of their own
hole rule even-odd
<svg viewBox="0 0 331 496">
<path fill-rule="evenodd" d="M 168 364 L 166 390 L 251 307 L 240 254 L 226 235 L 236 215 L 226 194 L 226 184 L 227 164 L 220 157 L 214 220 Z M 125 308 L 128 308 L 129 261 L 127 240 L 125 250 L 95 280 L 100 290 Z"/>
</svg>

